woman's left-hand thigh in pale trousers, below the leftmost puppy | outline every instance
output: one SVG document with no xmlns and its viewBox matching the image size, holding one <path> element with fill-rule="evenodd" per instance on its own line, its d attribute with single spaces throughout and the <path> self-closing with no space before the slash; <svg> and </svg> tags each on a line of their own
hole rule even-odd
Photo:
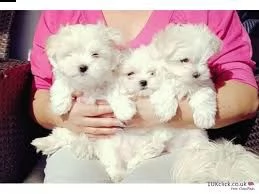
<svg viewBox="0 0 259 194">
<path fill-rule="evenodd" d="M 97 160 L 79 160 L 68 148 L 47 158 L 45 183 L 108 183 L 109 176 Z"/>
</svg>

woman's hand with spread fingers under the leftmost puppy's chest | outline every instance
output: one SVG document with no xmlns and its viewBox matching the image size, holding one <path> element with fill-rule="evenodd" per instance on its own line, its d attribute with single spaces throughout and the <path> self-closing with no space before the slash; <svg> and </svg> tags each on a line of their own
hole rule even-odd
<svg viewBox="0 0 259 194">
<path fill-rule="evenodd" d="M 104 101 L 94 105 L 80 103 L 76 98 L 82 93 L 73 94 L 71 110 L 62 116 L 62 126 L 75 132 L 84 132 L 89 137 L 103 137 L 115 134 L 124 125 L 114 118 L 111 107 Z"/>
</svg>

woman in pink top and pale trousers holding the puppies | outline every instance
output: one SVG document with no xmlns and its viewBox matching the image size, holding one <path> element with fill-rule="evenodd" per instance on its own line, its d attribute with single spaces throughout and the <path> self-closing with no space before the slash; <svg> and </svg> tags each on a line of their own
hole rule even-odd
<svg viewBox="0 0 259 194">
<path fill-rule="evenodd" d="M 217 118 L 211 130 L 217 130 L 253 116 L 258 107 L 257 84 L 253 75 L 255 63 L 251 60 L 251 43 L 235 11 L 44 11 L 40 17 L 31 53 L 34 76 L 33 117 L 44 128 L 65 127 L 83 131 L 94 138 L 106 138 L 125 127 L 156 125 L 149 102 L 138 99 L 138 114 L 122 124 L 114 117 L 105 101 L 96 105 L 76 101 L 68 114 L 58 116 L 49 108 L 49 88 L 53 83 L 51 65 L 46 56 L 47 38 L 64 24 L 96 24 L 119 29 L 125 48 L 147 45 L 159 30 L 169 23 L 204 23 L 222 40 L 223 48 L 210 60 L 213 81 L 217 88 Z M 80 96 L 75 92 L 74 98 Z M 179 104 L 177 114 L 168 124 L 177 128 L 193 128 L 192 111 L 187 100 Z M 170 163 L 167 154 L 147 160 L 123 182 L 170 182 Z M 65 161 L 65 162 L 64 162 Z M 98 161 L 78 160 L 67 149 L 48 157 L 44 182 L 110 182 Z"/>
</svg>

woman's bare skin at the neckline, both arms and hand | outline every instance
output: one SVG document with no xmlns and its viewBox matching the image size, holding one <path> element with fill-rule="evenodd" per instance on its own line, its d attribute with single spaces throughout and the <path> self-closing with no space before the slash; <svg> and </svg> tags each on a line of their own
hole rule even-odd
<svg viewBox="0 0 259 194">
<path fill-rule="evenodd" d="M 108 26 L 121 30 L 127 46 L 127 42 L 141 31 L 151 11 L 103 11 L 103 14 Z M 80 92 L 74 96 L 80 96 Z M 217 99 L 218 115 L 214 128 L 249 119 L 255 115 L 258 108 L 256 88 L 235 80 L 226 81 L 218 88 Z M 136 103 L 138 114 L 126 123 L 127 127 L 148 127 L 158 123 L 147 99 L 138 99 Z M 37 90 L 32 102 L 32 115 L 36 122 L 47 129 L 66 127 L 76 132 L 83 131 L 92 137 L 107 137 L 125 127 L 113 117 L 111 108 L 103 101 L 91 106 L 75 101 L 71 111 L 62 117 L 54 115 L 49 107 L 49 91 Z M 177 115 L 168 125 L 195 128 L 192 111 L 186 100 L 180 102 Z"/>
</svg>

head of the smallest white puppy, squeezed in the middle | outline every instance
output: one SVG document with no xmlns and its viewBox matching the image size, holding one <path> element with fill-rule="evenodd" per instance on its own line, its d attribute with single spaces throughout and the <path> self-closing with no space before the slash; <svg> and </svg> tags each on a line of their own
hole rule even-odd
<svg viewBox="0 0 259 194">
<path fill-rule="evenodd" d="M 148 47 L 130 50 L 119 67 L 120 84 L 128 94 L 149 96 L 156 91 L 163 78 L 162 61 L 152 58 Z"/>
</svg>

